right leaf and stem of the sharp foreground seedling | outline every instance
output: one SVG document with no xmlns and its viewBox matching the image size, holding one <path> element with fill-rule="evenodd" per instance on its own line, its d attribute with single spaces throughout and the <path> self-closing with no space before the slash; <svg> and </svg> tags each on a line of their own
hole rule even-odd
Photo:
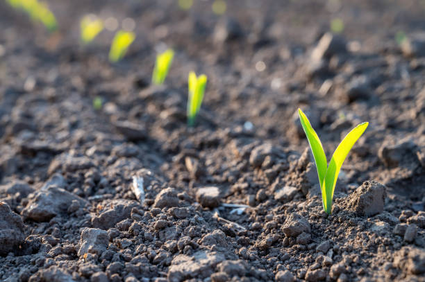
<svg viewBox="0 0 425 282">
<path fill-rule="evenodd" d="M 367 125 L 369 125 L 369 123 L 360 123 L 354 127 L 353 130 L 351 130 L 349 134 L 342 139 L 340 145 L 338 145 L 333 153 L 331 162 L 326 170 L 324 183 L 322 184 L 323 206 L 324 210 L 328 214 L 331 214 L 332 211 L 333 192 L 335 191 L 335 185 L 338 175 L 340 174 L 341 166 L 351 148 L 353 148 L 354 143 L 356 143 L 360 136 L 362 136 L 363 132 L 365 132 Z"/>
</svg>

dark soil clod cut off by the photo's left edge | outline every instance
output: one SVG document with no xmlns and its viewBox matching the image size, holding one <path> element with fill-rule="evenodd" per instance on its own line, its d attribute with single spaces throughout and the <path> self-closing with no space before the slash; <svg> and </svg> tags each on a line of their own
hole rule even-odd
<svg viewBox="0 0 425 282">
<path fill-rule="evenodd" d="M 22 218 L 0 202 L 0 256 L 15 252 L 24 244 L 25 226 Z"/>
</svg>

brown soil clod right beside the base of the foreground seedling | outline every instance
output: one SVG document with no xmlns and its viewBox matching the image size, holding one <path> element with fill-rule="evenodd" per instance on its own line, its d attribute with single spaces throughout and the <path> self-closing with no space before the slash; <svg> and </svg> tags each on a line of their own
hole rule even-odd
<svg viewBox="0 0 425 282">
<path fill-rule="evenodd" d="M 348 197 L 351 211 L 358 215 L 376 215 L 383 212 L 386 188 L 383 184 L 366 181 Z"/>
</svg>

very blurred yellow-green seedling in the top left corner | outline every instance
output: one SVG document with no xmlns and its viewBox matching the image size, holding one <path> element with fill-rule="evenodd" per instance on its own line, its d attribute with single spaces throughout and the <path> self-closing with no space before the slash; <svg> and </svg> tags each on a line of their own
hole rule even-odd
<svg viewBox="0 0 425 282">
<path fill-rule="evenodd" d="M 38 0 L 6 0 L 15 9 L 26 12 L 33 21 L 40 21 L 50 32 L 58 28 L 55 15 L 46 3 Z"/>
</svg>

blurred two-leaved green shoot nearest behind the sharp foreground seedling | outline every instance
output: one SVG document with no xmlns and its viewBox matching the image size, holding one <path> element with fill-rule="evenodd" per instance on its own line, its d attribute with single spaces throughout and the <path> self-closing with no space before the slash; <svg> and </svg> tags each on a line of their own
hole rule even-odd
<svg viewBox="0 0 425 282">
<path fill-rule="evenodd" d="M 201 74 L 201 76 L 197 77 L 196 73 L 194 73 L 193 71 L 189 73 L 188 125 L 190 127 L 194 126 L 194 122 L 197 118 L 199 109 L 201 109 L 206 82 L 207 77 L 205 74 Z"/>
</svg>

